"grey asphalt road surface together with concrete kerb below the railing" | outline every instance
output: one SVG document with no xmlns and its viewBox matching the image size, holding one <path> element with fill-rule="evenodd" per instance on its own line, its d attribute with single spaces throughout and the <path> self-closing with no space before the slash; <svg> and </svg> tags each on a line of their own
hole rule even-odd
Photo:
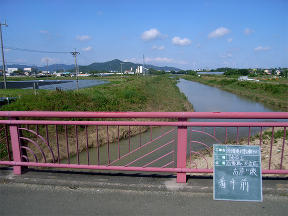
<svg viewBox="0 0 288 216">
<path fill-rule="evenodd" d="M 288 215 L 287 178 L 263 179 L 263 201 L 213 200 L 213 178 L 0 169 L 0 215 Z"/>
</svg>

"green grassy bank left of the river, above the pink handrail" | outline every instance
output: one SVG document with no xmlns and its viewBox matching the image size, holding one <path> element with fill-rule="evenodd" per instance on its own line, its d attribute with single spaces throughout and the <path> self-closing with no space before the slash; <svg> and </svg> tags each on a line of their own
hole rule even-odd
<svg viewBox="0 0 288 216">
<path fill-rule="evenodd" d="M 109 78 L 108 78 L 109 80 Z M 114 81 L 117 83 L 119 81 Z M 1 111 L 193 111 L 176 82 L 167 76 L 123 80 L 121 84 L 78 91 L 8 89 L 1 97 L 21 95 Z"/>
</svg>

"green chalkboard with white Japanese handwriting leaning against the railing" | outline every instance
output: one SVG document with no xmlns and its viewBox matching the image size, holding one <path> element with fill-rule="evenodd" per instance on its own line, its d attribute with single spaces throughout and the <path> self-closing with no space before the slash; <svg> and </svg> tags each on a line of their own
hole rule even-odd
<svg viewBox="0 0 288 216">
<path fill-rule="evenodd" d="M 258 145 L 213 145 L 214 200 L 262 201 Z"/>
</svg>

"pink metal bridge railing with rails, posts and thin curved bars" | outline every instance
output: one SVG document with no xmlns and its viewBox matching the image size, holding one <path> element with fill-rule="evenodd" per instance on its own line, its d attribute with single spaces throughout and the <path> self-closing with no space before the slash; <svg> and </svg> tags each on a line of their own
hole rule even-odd
<svg viewBox="0 0 288 216">
<path fill-rule="evenodd" d="M 11 155 L 9 153 L 9 160 L 4 158 L 3 160 L 0 161 L 0 164 L 6 164 L 6 165 L 13 165 L 14 166 L 14 171 L 15 174 L 21 174 L 23 171 L 26 169 L 28 166 L 41 166 L 41 167 L 62 167 L 62 168 L 93 168 L 93 169 L 114 169 L 114 170 L 142 170 L 142 171 L 167 171 L 167 172 L 177 172 L 177 182 L 186 182 L 186 172 L 207 172 L 207 173 L 212 173 L 213 169 L 209 169 L 207 166 L 207 169 L 198 169 L 196 168 L 187 168 L 187 132 L 190 130 L 192 134 L 192 129 L 188 129 L 188 127 L 202 127 L 202 133 L 206 134 L 209 136 L 209 138 L 214 138 L 215 140 L 218 141 L 215 137 L 215 128 L 216 127 L 226 127 L 226 132 L 225 132 L 225 143 L 226 143 L 226 138 L 227 138 L 227 128 L 228 127 L 237 127 L 237 137 L 236 141 L 238 143 L 238 136 L 239 136 L 239 127 L 248 127 L 248 138 L 250 137 L 250 132 L 251 132 L 251 127 L 261 127 L 260 128 L 260 145 L 261 145 L 261 139 L 262 139 L 262 131 L 263 128 L 265 127 L 272 127 L 272 135 L 271 135 L 271 140 L 269 141 L 270 147 L 270 158 L 269 158 L 269 167 L 268 170 L 262 170 L 262 173 L 280 173 L 280 174 L 287 174 L 288 169 L 282 169 L 282 161 L 284 157 L 284 146 L 286 145 L 285 143 L 285 134 L 286 134 L 286 128 L 288 128 L 288 112 L 59 112 L 59 111 L 52 111 L 52 112 L 46 112 L 46 111 L 0 111 L 0 117 L 2 118 L 0 120 L 0 124 L 4 124 L 4 132 L 5 132 L 5 137 L 2 140 L 6 141 L 6 148 L 7 151 L 10 152 L 10 149 L 12 147 L 12 153 L 13 153 L 13 159 L 11 159 Z M 21 119 L 19 119 L 21 118 Z M 25 118 L 25 119 L 22 119 Z M 43 118 L 43 119 L 42 119 Z M 64 119 L 67 118 L 67 119 Z M 69 118 L 73 118 L 73 120 L 69 121 Z M 80 119 L 82 118 L 82 119 Z M 107 119 L 108 121 L 105 121 L 103 119 Z M 55 120 L 57 119 L 57 120 Z M 89 119 L 89 120 L 86 120 Z M 112 119 L 112 120 L 111 120 Z M 135 119 L 141 119 L 135 120 Z M 144 119 L 144 120 L 143 120 Z M 145 120 L 147 119 L 147 120 Z M 151 120 L 152 119 L 152 120 Z M 159 120 L 160 119 L 160 120 Z M 171 119 L 176 121 L 161 121 L 161 119 Z M 190 119 L 190 121 L 188 121 Z M 203 119 L 213 119 L 210 122 L 203 121 Z M 215 119 L 217 119 L 215 121 Z M 230 119 L 233 121 L 228 121 L 228 122 L 223 122 L 220 119 Z M 242 122 L 237 119 L 251 119 L 249 122 Z M 252 120 L 253 119 L 253 120 Z M 258 120 L 256 120 L 258 119 Z M 261 121 L 266 120 L 266 119 L 271 119 L 268 122 L 267 121 Z M 280 120 L 277 120 L 280 119 Z M 85 121 L 81 121 L 85 120 Z M 178 121 L 177 121 L 178 120 Z M 277 121 L 276 121 L 277 120 Z M 257 122 L 258 121 L 258 122 Z M 34 131 L 33 127 L 30 125 L 35 125 Z M 39 125 L 45 125 L 45 128 L 41 128 L 43 135 L 40 133 L 39 134 Z M 55 125 L 55 128 L 53 129 L 53 133 L 55 132 L 56 138 L 54 140 L 54 150 L 50 146 L 49 142 L 49 128 L 48 125 Z M 57 125 L 65 125 L 65 132 L 63 133 L 64 136 L 62 136 L 62 139 L 66 142 L 64 144 L 64 148 L 66 147 L 67 150 L 67 155 L 68 155 L 68 164 L 66 163 L 56 163 L 55 162 L 55 155 L 53 152 L 57 152 L 58 158 L 60 158 L 60 153 L 59 153 L 59 140 L 58 140 L 58 129 Z M 78 149 L 78 129 L 77 125 L 85 125 L 85 137 L 82 138 L 84 141 L 86 141 L 86 149 L 87 149 L 87 161 L 89 161 L 89 145 L 88 145 L 88 127 L 90 125 L 96 125 L 96 127 L 93 127 L 95 129 L 95 134 L 93 135 L 96 137 L 97 146 L 98 146 L 98 126 L 101 125 L 106 125 L 106 135 L 107 136 L 107 149 L 108 149 L 108 164 L 105 165 L 100 165 L 98 161 L 98 165 L 90 165 L 88 164 L 80 164 L 79 158 L 78 158 L 78 163 L 70 163 L 69 162 L 69 147 L 70 143 L 72 141 L 68 138 L 68 129 L 67 125 L 75 125 L 75 138 L 76 145 L 77 145 L 77 155 L 79 154 L 79 149 Z M 114 127 L 116 128 L 116 132 L 118 132 L 118 159 L 114 160 L 113 162 L 110 162 L 110 157 L 109 157 L 109 129 L 108 126 L 114 125 L 118 126 Z M 167 164 L 162 165 L 161 167 L 146 167 L 144 166 L 139 166 L 139 167 L 130 167 L 128 165 L 126 166 L 114 166 L 114 162 L 118 161 L 120 159 L 120 145 L 119 145 L 119 126 L 140 126 L 139 127 L 139 133 L 141 135 L 141 126 L 151 126 L 151 137 L 150 141 L 148 141 L 146 144 L 152 142 L 152 127 L 153 126 L 174 126 L 174 128 L 171 131 L 174 131 L 173 133 L 173 138 L 169 140 L 168 143 L 166 143 L 163 146 L 166 146 L 170 143 L 173 143 L 173 149 L 169 149 L 168 154 L 161 155 L 156 160 L 149 161 L 148 164 L 154 163 L 155 161 L 158 161 L 159 159 L 162 159 L 163 157 L 170 155 L 173 153 L 173 159 L 171 161 L 168 161 Z M 177 127 L 175 129 L 175 127 Z M 204 132 L 204 127 L 214 127 L 214 135 L 209 135 L 208 133 Z M 272 146 L 273 146 L 273 134 L 274 134 L 274 127 L 283 127 L 283 139 L 281 141 L 281 162 L 280 162 L 280 169 L 270 169 L 271 166 L 271 155 L 272 155 Z M 72 127 L 70 127 L 72 128 Z M 90 127 L 92 128 L 92 127 Z M 102 127 L 104 128 L 104 127 Z M 128 131 L 130 129 L 128 128 Z M 9 129 L 9 130 L 8 130 Z M 63 129 L 63 128 L 62 128 Z M 55 130 L 55 131 L 54 131 Z M 177 141 L 175 138 L 175 130 L 177 133 Z M 213 130 L 213 129 L 212 129 Z M 10 136 L 8 134 L 8 131 L 10 131 Z M 44 142 L 44 147 L 48 148 L 50 153 L 52 154 L 53 157 L 53 162 L 46 162 L 46 157 L 44 154 L 44 151 L 41 149 L 41 147 L 37 144 L 38 140 L 32 140 L 27 137 L 25 137 L 25 133 L 23 131 L 33 133 L 33 136 L 38 136 L 38 139 Z M 196 131 L 196 132 L 201 132 L 201 131 Z M 130 132 L 129 132 L 130 133 Z M 24 134 L 24 135 L 23 135 Z M 54 134 L 53 134 L 54 135 Z M 136 149 L 140 149 L 141 147 L 144 147 L 146 144 L 141 145 L 141 136 L 140 137 L 140 147 L 137 147 Z M 162 128 L 162 135 L 159 137 L 163 136 L 163 128 Z M 83 137 L 83 136 L 82 136 Z M 130 137 L 130 134 L 128 135 Z M 158 138 L 159 138 L 158 137 Z M 157 139 L 158 139 L 157 138 Z M 106 139 L 106 138 L 105 138 Z M 45 158 L 45 163 L 43 162 L 38 162 L 38 159 L 36 157 L 36 154 L 32 149 L 29 147 L 23 145 L 24 141 L 23 140 L 28 140 L 32 144 L 38 147 L 38 149 L 42 152 L 43 157 Z M 90 140 L 90 138 L 89 138 Z M 83 141 L 83 142 L 84 142 Z M 3 141 L 4 142 L 4 141 Z M 192 140 L 190 138 L 190 145 L 192 142 L 199 143 L 196 140 Z M 175 146 L 175 143 L 177 145 Z M 11 144 L 11 147 L 10 147 Z M 202 143 L 205 145 L 204 143 Z M 130 140 L 129 140 L 129 153 L 125 154 L 130 155 Z M 248 145 L 249 145 L 249 139 L 248 139 Z M 161 148 L 163 147 L 161 146 Z M 206 146 L 206 145 L 205 145 Z M 176 149 L 177 148 L 177 151 Z M 191 147 L 190 147 L 191 148 Z M 160 149 L 157 148 L 153 151 L 156 151 Z M 2 149 L 0 149 L 2 150 Z M 65 150 L 65 151 L 66 151 Z M 97 148 L 99 150 L 99 148 Z M 122 148 L 121 148 L 122 150 Z M 29 161 L 27 151 L 31 152 L 34 157 L 36 162 Z M 153 152 L 152 151 L 152 152 Z M 194 151 L 190 150 L 190 157 L 191 153 Z M 151 152 L 150 152 L 151 153 Z M 149 154 L 150 154 L 149 153 Z M 99 160 L 99 151 L 98 151 L 98 160 Z M 177 156 L 174 154 L 177 154 Z M 144 156 L 147 156 L 148 154 L 145 154 Z M 171 154 L 172 155 L 172 154 Z M 203 155 L 201 155 L 203 156 Z M 143 157 L 143 156 L 142 156 Z M 141 157 L 140 157 L 141 158 Z M 175 159 L 176 158 L 176 159 Z M 139 158 L 138 158 L 139 159 Z M 205 159 L 205 158 L 204 158 Z M 206 160 L 206 159 L 205 159 Z M 132 160 L 131 163 L 135 162 L 136 160 Z M 191 161 L 190 161 L 191 162 Z M 207 162 L 207 161 L 206 161 Z M 193 161 L 192 161 L 193 163 Z M 113 164 L 113 165 L 111 165 Z M 173 167 L 168 167 L 168 165 L 173 164 Z M 208 165 L 208 163 L 207 163 Z M 167 167 L 166 167 L 167 166 Z"/>
</svg>

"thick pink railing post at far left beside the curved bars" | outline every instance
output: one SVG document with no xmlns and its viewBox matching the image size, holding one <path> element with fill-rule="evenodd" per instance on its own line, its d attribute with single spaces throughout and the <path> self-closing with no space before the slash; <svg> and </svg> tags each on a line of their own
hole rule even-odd
<svg viewBox="0 0 288 216">
<path fill-rule="evenodd" d="M 15 120 L 15 118 L 9 118 L 9 120 Z M 17 124 L 10 125 L 11 145 L 13 152 L 13 161 L 22 161 L 21 158 L 21 143 L 19 139 L 19 131 Z M 21 175 L 28 171 L 28 166 L 14 166 L 15 175 Z"/>
</svg>

